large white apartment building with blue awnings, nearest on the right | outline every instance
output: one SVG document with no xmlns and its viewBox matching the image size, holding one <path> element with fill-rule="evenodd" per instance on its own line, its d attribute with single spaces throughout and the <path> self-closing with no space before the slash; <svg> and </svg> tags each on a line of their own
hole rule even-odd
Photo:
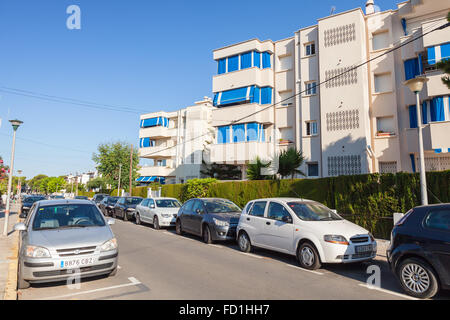
<svg viewBox="0 0 450 320">
<path fill-rule="evenodd" d="M 425 75 L 426 169 L 450 169 L 450 90 L 435 67 L 450 58 L 450 27 L 427 34 L 447 23 L 449 10 L 449 0 L 409 0 L 387 11 L 369 0 L 365 12 L 321 18 L 288 39 L 214 50 L 210 160 L 241 165 L 245 178 L 256 156 L 270 160 L 295 147 L 308 177 L 415 172 L 415 95 L 403 83 Z"/>
</svg>

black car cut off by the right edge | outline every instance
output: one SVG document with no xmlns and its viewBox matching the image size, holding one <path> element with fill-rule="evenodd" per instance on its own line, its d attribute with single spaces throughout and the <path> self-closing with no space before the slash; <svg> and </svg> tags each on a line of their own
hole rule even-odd
<svg viewBox="0 0 450 320">
<path fill-rule="evenodd" d="M 409 295 L 431 298 L 450 289 L 450 204 L 408 211 L 392 230 L 387 257 Z"/>
</svg>

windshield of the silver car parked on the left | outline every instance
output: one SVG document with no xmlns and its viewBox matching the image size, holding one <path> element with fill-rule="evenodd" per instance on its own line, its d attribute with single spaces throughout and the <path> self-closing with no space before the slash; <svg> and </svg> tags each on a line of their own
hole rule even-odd
<svg viewBox="0 0 450 320">
<path fill-rule="evenodd" d="M 40 207 L 33 221 L 33 230 L 103 227 L 105 221 L 94 205 L 64 204 Z"/>
</svg>

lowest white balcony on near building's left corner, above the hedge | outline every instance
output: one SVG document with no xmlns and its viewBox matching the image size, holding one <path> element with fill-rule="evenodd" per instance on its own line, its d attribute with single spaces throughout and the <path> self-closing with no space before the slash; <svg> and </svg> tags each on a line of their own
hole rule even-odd
<svg viewBox="0 0 450 320">
<path fill-rule="evenodd" d="M 239 142 L 214 144 L 211 147 L 211 162 L 244 164 L 257 156 L 271 160 L 273 145 L 269 142 Z"/>
</svg>

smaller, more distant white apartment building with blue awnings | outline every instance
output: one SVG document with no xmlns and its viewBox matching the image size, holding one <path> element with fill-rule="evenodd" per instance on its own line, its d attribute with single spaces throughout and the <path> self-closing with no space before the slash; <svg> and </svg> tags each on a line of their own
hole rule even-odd
<svg viewBox="0 0 450 320">
<path fill-rule="evenodd" d="M 213 142 L 212 100 L 173 112 L 141 115 L 139 156 L 141 185 L 151 182 L 183 183 L 199 178 L 202 161 L 209 161 Z"/>
</svg>

